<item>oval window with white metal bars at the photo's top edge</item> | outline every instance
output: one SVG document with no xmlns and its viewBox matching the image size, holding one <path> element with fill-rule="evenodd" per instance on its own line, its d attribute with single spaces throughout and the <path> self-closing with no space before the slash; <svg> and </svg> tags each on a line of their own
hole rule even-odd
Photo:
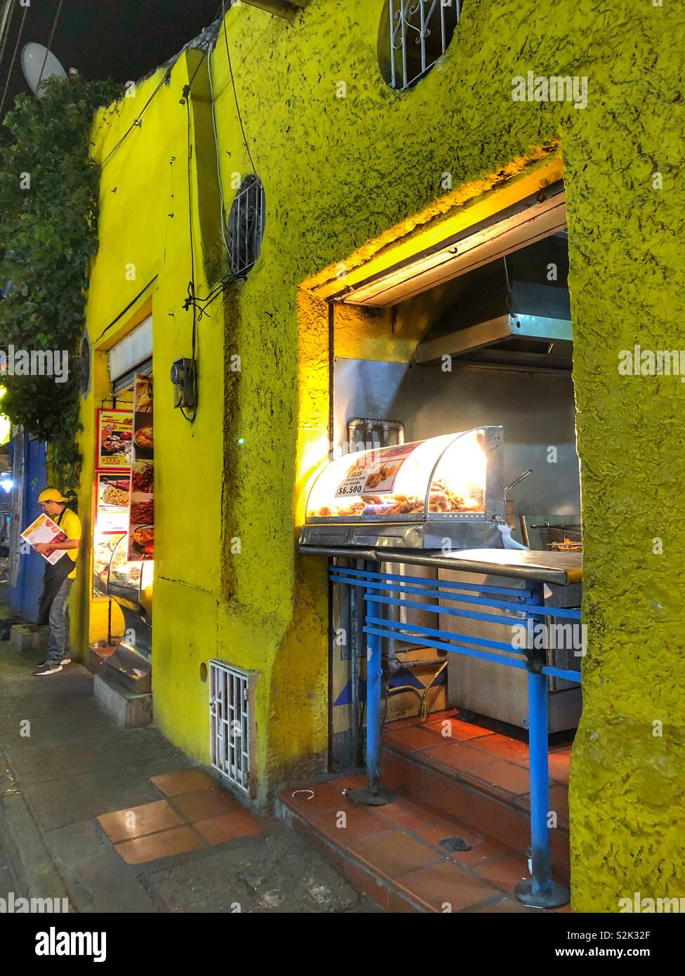
<svg viewBox="0 0 685 976">
<path fill-rule="evenodd" d="M 459 22 L 462 0 L 388 0 L 391 86 L 405 91 L 442 57 Z"/>
</svg>

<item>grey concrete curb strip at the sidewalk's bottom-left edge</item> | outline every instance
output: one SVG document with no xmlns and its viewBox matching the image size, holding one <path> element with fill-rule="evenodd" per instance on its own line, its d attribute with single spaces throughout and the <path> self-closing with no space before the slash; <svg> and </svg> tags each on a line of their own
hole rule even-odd
<svg viewBox="0 0 685 976">
<path fill-rule="evenodd" d="M 0 843 L 10 871 L 26 898 L 71 899 L 3 755 L 0 777 Z"/>
</svg>

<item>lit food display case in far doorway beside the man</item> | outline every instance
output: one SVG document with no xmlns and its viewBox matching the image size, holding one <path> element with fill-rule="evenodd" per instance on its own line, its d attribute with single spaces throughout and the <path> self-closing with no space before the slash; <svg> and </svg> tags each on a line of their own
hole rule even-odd
<svg viewBox="0 0 685 976">
<path fill-rule="evenodd" d="M 118 603 L 124 635 L 107 659 L 107 673 L 138 693 L 151 687 L 152 568 L 153 562 L 129 562 L 128 536 L 122 536 L 111 554 L 107 595 Z"/>
</svg>

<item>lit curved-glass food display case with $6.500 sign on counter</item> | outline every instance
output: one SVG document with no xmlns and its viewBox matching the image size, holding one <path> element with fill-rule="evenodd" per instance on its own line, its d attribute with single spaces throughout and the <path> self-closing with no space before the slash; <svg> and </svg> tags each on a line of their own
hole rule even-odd
<svg viewBox="0 0 685 976">
<path fill-rule="evenodd" d="M 310 492 L 300 544 L 501 548 L 502 428 L 476 427 L 344 455 Z"/>
</svg>

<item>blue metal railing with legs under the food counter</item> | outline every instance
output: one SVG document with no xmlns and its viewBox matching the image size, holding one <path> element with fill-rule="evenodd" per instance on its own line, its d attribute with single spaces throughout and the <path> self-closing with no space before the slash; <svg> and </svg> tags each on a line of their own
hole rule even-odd
<svg viewBox="0 0 685 976">
<path fill-rule="evenodd" d="M 491 640 L 468 633 L 423 627 L 412 623 L 393 621 L 383 617 L 384 607 L 405 607 L 434 613 L 440 624 L 440 616 L 485 621 L 503 628 L 523 627 L 530 634 L 533 624 L 539 626 L 548 617 L 564 618 L 570 622 L 580 620 L 575 609 L 545 606 L 543 585 L 526 581 L 525 589 L 492 587 L 484 584 L 459 583 L 453 580 L 430 580 L 423 577 L 404 576 L 333 566 L 330 579 L 334 583 L 364 590 L 364 628 L 367 637 L 366 654 L 366 775 L 369 792 L 379 789 L 380 773 L 380 710 L 381 710 L 381 639 L 397 638 L 420 647 L 432 647 L 451 654 L 488 661 L 504 668 L 528 671 L 528 731 L 531 776 L 531 849 L 532 865 L 530 881 L 522 881 L 516 893 L 527 905 L 553 908 L 568 901 L 568 891 L 552 877 L 549 810 L 549 759 L 548 759 L 548 677 L 559 677 L 580 683 L 578 671 L 548 665 L 546 650 L 530 647 L 530 640 L 523 649 L 514 645 L 510 638 Z M 386 595 L 382 595 L 385 593 Z M 435 602 L 419 602 L 411 597 L 430 597 Z M 408 598 L 407 598 L 408 597 Z M 508 597 L 501 599 L 500 597 Z M 457 602 L 465 609 L 446 606 L 445 601 Z M 494 608 L 499 614 L 485 612 Z M 502 611 L 509 611 L 508 614 Z M 534 642 L 534 644 L 536 641 Z M 472 646 L 469 646 L 472 645 Z M 487 648 L 485 650 L 484 648 Z"/>
</svg>

